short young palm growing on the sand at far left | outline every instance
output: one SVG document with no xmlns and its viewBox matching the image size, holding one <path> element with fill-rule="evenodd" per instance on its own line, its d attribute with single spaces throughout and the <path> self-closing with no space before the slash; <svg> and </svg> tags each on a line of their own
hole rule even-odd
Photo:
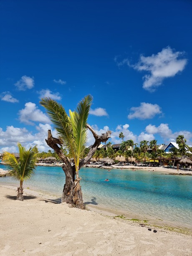
<svg viewBox="0 0 192 256">
<path fill-rule="evenodd" d="M 20 181 L 20 187 L 18 188 L 17 200 L 23 201 L 23 181 L 30 179 L 35 171 L 36 162 L 36 149 L 37 145 L 33 148 L 26 150 L 18 143 L 19 158 L 17 159 L 10 152 L 3 154 L 3 160 L 8 165 L 8 170 L 15 180 Z"/>
</svg>

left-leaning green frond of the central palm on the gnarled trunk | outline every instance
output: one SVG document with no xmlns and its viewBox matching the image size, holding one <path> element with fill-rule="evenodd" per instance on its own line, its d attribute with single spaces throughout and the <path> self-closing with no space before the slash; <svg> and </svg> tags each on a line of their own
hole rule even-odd
<svg viewBox="0 0 192 256">
<path fill-rule="evenodd" d="M 53 122 L 53 127 L 56 129 L 61 139 L 63 139 L 65 146 L 68 149 L 75 148 L 71 120 L 63 106 L 50 98 L 41 99 L 40 104 L 46 109 L 51 122 Z"/>
</svg>

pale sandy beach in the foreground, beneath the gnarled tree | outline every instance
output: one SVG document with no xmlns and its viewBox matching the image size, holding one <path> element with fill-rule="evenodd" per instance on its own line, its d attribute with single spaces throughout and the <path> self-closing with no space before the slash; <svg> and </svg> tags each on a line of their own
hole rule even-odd
<svg viewBox="0 0 192 256">
<path fill-rule="evenodd" d="M 192 237 L 58 204 L 0 185 L 0 255 L 191 256 Z M 149 231 L 148 228 L 152 230 Z"/>
</svg>

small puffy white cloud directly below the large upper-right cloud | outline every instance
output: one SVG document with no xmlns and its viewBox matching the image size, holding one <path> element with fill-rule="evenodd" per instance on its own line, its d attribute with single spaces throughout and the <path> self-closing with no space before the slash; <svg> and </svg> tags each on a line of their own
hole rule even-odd
<svg viewBox="0 0 192 256">
<path fill-rule="evenodd" d="M 140 106 L 132 107 L 129 119 L 138 118 L 141 120 L 152 119 L 156 114 L 161 114 L 161 108 L 157 104 L 141 102 Z"/>
</svg>

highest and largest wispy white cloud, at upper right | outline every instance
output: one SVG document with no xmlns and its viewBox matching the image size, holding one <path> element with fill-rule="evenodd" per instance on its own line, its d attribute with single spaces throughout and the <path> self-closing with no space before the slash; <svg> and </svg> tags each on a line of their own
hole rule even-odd
<svg viewBox="0 0 192 256">
<path fill-rule="evenodd" d="M 183 71 L 187 64 L 186 58 L 180 58 L 183 52 L 175 52 L 169 46 L 163 48 L 161 52 L 144 57 L 141 55 L 140 61 L 134 66 L 138 71 L 148 71 L 149 74 L 143 77 L 143 88 L 154 91 L 167 77 L 172 77 Z"/>
</svg>

